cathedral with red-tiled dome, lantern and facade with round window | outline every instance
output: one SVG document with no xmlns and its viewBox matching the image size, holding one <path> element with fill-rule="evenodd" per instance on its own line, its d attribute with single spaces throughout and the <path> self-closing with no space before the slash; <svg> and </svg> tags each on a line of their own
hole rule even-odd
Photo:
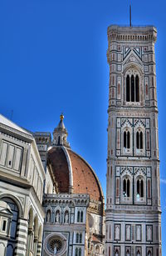
<svg viewBox="0 0 166 256">
<path fill-rule="evenodd" d="M 63 115 L 53 132 L 34 133 L 46 169 L 43 256 L 104 255 L 105 202 L 100 182 L 67 142 Z"/>
</svg>

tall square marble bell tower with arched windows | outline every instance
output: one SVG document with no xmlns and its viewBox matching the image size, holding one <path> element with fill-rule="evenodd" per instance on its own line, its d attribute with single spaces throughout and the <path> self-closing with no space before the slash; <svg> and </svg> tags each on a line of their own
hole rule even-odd
<svg viewBox="0 0 166 256">
<path fill-rule="evenodd" d="M 156 37 L 108 28 L 106 256 L 161 256 Z"/>
</svg>

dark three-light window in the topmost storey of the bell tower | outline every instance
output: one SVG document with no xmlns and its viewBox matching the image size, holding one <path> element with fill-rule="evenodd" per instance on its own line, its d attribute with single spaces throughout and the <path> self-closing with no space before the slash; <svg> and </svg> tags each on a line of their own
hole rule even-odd
<svg viewBox="0 0 166 256">
<path fill-rule="evenodd" d="M 139 102 L 139 76 L 126 77 L 126 102 Z"/>
</svg>

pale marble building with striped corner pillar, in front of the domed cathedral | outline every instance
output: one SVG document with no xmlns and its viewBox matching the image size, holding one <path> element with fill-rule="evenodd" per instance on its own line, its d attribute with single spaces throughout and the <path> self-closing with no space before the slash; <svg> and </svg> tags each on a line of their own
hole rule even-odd
<svg viewBox="0 0 166 256">
<path fill-rule="evenodd" d="M 32 134 L 0 115 L 1 256 L 41 255 L 45 178 Z"/>
</svg>

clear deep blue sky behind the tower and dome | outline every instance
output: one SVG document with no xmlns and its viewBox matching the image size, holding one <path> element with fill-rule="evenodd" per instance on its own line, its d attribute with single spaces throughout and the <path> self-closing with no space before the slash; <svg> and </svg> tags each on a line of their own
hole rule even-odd
<svg viewBox="0 0 166 256">
<path fill-rule="evenodd" d="M 0 111 L 32 131 L 52 132 L 65 115 L 68 141 L 105 192 L 109 68 L 107 27 L 129 24 L 129 1 L 0 1 Z M 153 24 L 159 101 L 163 255 L 166 255 L 165 1 L 132 1 L 134 25 Z"/>
</svg>

